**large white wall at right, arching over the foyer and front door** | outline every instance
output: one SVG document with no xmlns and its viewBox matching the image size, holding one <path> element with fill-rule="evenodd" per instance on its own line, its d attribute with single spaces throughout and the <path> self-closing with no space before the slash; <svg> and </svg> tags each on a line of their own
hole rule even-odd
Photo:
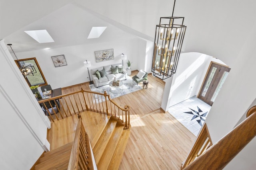
<svg viewBox="0 0 256 170">
<path fill-rule="evenodd" d="M 188 26 L 184 50 L 214 56 L 231 68 L 206 119 L 213 143 L 234 128 L 256 98 L 255 6 L 252 0 L 184 0 L 176 8 Z M 255 150 L 241 152 L 229 166 L 255 167 L 255 160 L 243 159 L 246 155 L 255 158 Z"/>
</svg>

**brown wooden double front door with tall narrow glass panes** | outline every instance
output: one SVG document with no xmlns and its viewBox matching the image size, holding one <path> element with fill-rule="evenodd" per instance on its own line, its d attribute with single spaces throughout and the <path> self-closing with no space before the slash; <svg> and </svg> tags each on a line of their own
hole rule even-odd
<svg viewBox="0 0 256 170">
<path fill-rule="evenodd" d="M 212 106 L 228 76 L 229 71 L 230 68 L 226 66 L 217 63 L 210 63 L 198 98 Z"/>
</svg>

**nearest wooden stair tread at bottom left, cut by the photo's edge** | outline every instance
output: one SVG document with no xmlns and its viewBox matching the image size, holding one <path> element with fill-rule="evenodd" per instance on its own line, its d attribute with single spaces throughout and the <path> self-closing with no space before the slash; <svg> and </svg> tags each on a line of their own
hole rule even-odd
<svg viewBox="0 0 256 170">
<path fill-rule="evenodd" d="M 70 159 L 71 150 L 68 152 L 65 152 L 64 154 L 55 156 L 54 158 L 48 159 L 44 162 L 41 162 L 35 166 L 35 170 L 40 169 L 58 169 L 63 164 L 68 164 Z"/>
</svg>

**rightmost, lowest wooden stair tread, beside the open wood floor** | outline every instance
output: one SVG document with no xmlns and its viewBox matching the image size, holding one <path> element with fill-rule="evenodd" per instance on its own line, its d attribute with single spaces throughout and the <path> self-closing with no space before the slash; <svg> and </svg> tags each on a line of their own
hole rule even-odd
<svg viewBox="0 0 256 170">
<path fill-rule="evenodd" d="M 124 150 L 126 148 L 126 144 L 129 139 L 130 130 L 131 130 L 131 126 L 129 129 L 125 129 L 122 131 L 120 141 L 118 142 L 118 146 L 116 147 L 117 149 L 114 151 L 114 154 L 110 160 L 108 170 L 117 170 L 119 168 L 120 162 L 124 154 Z"/>
</svg>

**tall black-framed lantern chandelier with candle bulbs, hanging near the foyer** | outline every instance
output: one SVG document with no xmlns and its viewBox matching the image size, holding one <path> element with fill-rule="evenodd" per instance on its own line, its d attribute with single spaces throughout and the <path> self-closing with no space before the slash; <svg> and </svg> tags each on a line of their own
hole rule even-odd
<svg viewBox="0 0 256 170">
<path fill-rule="evenodd" d="M 173 16 L 174 6 L 175 0 L 172 16 L 161 17 L 159 25 L 156 25 L 152 72 L 162 80 L 175 74 L 186 32 L 184 17 Z"/>
</svg>

